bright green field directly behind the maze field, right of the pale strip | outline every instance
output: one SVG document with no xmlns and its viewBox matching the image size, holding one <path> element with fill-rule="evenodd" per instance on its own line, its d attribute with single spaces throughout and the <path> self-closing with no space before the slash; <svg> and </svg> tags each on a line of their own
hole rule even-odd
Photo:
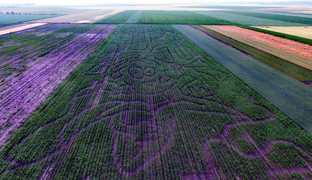
<svg viewBox="0 0 312 180">
<path fill-rule="evenodd" d="M 216 24 L 236 25 L 237 23 L 215 17 L 207 17 L 190 11 L 143 11 L 139 24 Z"/>
</svg>

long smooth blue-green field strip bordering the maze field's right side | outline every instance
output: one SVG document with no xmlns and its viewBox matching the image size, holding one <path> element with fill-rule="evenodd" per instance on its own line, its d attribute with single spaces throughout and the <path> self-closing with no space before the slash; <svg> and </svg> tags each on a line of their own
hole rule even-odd
<svg viewBox="0 0 312 180">
<path fill-rule="evenodd" d="M 310 87 L 193 27 L 172 26 L 274 104 L 300 127 L 312 132 L 312 90 Z"/>
</svg>

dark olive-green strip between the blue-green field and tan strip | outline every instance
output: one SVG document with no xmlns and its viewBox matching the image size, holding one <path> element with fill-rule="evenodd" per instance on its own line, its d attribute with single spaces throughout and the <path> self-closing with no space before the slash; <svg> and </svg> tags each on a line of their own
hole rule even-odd
<svg viewBox="0 0 312 180">
<path fill-rule="evenodd" d="M 250 47 L 244 43 L 236 41 L 230 37 L 226 37 L 218 32 L 207 29 L 205 27 L 198 26 L 198 25 L 194 25 L 193 27 L 203 32 L 206 32 L 209 35 L 216 37 L 217 39 L 252 55 L 256 59 L 260 60 L 261 62 L 266 63 L 267 65 L 295 79 L 298 79 L 299 81 L 312 81 L 312 72 L 310 70 L 301 68 L 300 66 L 297 66 L 293 63 L 277 58 L 271 54 L 260 51 L 254 47 Z"/>
</svg>

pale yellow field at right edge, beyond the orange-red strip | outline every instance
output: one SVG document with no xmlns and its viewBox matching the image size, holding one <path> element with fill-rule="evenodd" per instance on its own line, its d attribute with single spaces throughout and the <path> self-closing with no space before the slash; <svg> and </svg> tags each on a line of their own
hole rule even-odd
<svg viewBox="0 0 312 180">
<path fill-rule="evenodd" d="M 306 26 L 306 27 L 304 26 L 253 26 L 253 27 L 312 39 L 312 27 L 311 26 Z"/>
</svg>

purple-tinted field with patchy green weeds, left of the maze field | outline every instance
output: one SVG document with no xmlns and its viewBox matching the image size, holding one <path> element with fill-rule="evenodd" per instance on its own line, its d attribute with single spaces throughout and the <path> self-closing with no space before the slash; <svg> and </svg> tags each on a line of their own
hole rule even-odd
<svg viewBox="0 0 312 180">
<path fill-rule="evenodd" d="M 0 147 L 114 28 L 47 24 L 0 36 Z"/>
</svg>

